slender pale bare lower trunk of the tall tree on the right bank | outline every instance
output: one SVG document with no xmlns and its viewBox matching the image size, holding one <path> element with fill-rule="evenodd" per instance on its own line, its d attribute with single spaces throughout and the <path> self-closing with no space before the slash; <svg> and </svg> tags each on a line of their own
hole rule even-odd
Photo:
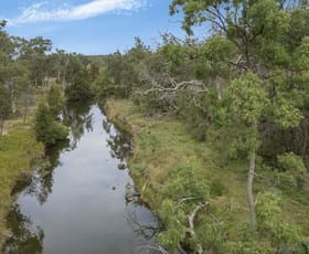
<svg viewBox="0 0 309 254">
<path fill-rule="evenodd" d="M 253 179 L 254 179 L 254 170 L 255 170 L 255 158 L 256 152 L 252 151 L 249 155 L 249 172 L 248 172 L 248 180 L 247 180 L 247 195 L 248 195 L 248 203 L 249 203 L 249 219 L 251 219 L 251 227 L 252 231 L 255 231 L 255 211 L 254 211 L 254 197 L 253 197 Z"/>
</svg>

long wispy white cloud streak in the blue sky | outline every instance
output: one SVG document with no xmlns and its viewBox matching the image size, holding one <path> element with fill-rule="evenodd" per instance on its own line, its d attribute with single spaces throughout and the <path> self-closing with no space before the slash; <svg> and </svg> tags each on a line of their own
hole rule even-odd
<svg viewBox="0 0 309 254">
<path fill-rule="evenodd" d="M 135 11 L 140 9 L 145 2 L 146 0 L 93 0 L 76 7 L 62 4 L 51 9 L 49 2 L 45 1 L 22 9 L 18 18 L 8 19 L 8 24 L 17 25 L 42 21 L 83 20 L 107 12 Z"/>
</svg>

